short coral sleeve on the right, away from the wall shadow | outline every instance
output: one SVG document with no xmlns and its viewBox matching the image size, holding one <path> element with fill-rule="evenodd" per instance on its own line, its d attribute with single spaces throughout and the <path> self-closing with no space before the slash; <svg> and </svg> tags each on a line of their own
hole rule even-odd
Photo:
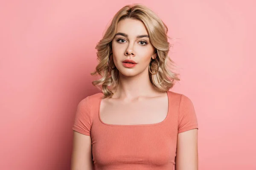
<svg viewBox="0 0 256 170">
<path fill-rule="evenodd" d="M 198 121 L 192 101 L 185 95 L 181 95 L 179 108 L 178 133 L 191 129 L 198 129 Z"/>
</svg>

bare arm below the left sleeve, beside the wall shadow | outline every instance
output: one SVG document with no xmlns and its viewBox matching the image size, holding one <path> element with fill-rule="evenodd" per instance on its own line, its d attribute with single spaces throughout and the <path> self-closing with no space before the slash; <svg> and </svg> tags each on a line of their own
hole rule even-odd
<svg viewBox="0 0 256 170">
<path fill-rule="evenodd" d="M 74 131 L 71 170 L 93 170 L 91 137 Z"/>
</svg>

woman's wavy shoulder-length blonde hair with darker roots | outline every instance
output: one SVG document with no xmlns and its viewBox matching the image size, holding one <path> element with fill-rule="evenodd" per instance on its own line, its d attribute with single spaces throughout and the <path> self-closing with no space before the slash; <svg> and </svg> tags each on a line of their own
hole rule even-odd
<svg viewBox="0 0 256 170">
<path fill-rule="evenodd" d="M 100 40 L 96 48 L 97 59 L 99 64 L 96 66 L 96 70 L 91 75 L 100 75 L 101 78 L 93 81 L 93 85 L 100 87 L 104 94 L 104 98 L 111 97 L 113 95 L 112 90 L 116 88 L 119 81 L 119 71 L 117 68 L 111 69 L 108 65 L 109 57 L 112 53 L 111 42 L 116 34 L 117 24 L 120 20 L 131 18 L 140 20 L 144 23 L 151 44 L 157 51 L 157 61 L 159 62 L 159 68 L 157 71 L 158 63 L 156 59 L 152 59 L 150 64 L 151 72 L 149 78 L 151 83 L 158 91 L 169 91 L 175 84 L 175 80 L 180 80 L 176 74 L 168 69 L 168 66 L 175 67 L 172 59 L 169 58 L 169 48 L 172 46 L 168 42 L 168 28 L 165 23 L 149 8 L 140 4 L 127 5 L 121 8 L 113 17 L 110 26 L 108 26 L 102 40 Z M 169 61 L 169 62 L 168 62 Z"/>
</svg>

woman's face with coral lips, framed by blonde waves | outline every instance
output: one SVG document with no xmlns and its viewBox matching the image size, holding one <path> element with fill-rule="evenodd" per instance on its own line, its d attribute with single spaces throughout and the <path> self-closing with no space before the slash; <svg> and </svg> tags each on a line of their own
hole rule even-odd
<svg viewBox="0 0 256 170">
<path fill-rule="evenodd" d="M 144 23 L 134 19 L 119 21 L 112 51 L 119 74 L 128 77 L 148 73 L 150 59 L 156 57 Z"/>
</svg>

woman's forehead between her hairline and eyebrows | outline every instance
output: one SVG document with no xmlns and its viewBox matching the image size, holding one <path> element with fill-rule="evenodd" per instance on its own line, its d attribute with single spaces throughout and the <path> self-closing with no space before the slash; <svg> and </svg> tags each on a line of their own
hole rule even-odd
<svg viewBox="0 0 256 170">
<path fill-rule="evenodd" d="M 129 37 L 142 34 L 148 35 L 148 31 L 142 21 L 130 18 L 119 21 L 117 24 L 117 32 L 128 34 Z"/>
</svg>

